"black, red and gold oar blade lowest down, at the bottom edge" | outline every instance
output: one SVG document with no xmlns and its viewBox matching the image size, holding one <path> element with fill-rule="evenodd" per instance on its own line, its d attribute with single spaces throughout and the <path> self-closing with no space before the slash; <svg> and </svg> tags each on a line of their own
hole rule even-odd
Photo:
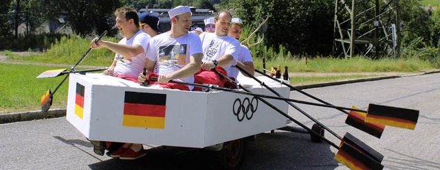
<svg viewBox="0 0 440 170">
<path fill-rule="evenodd" d="M 350 169 L 384 169 L 380 163 L 384 156 L 349 133 L 342 138 L 334 158 Z"/>
</svg>

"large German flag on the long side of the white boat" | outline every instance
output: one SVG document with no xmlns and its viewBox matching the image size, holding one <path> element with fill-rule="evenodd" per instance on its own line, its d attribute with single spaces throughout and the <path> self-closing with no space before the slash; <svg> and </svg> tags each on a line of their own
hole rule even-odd
<svg viewBox="0 0 440 170">
<path fill-rule="evenodd" d="M 125 92 L 123 126 L 165 128 L 166 94 Z"/>
</svg>

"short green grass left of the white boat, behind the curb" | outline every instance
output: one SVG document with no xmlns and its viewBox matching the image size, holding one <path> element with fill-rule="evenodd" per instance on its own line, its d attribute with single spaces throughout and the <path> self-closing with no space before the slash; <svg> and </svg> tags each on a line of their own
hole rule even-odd
<svg viewBox="0 0 440 170">
<path fill-rule="evenodd" d="M 0 113 L 41 110 L 41 97 L 50 89 L 52 92 L 65 75 L 50 78 L 35 78 L 47 70 L 66 69 L 56 66 L 33 66 L 27 64 L 0 63 Z M 80 69 L 80 68 L 78 68 Z M 54 94 L 51 108 L 67 107 L 69 80 Z"/>
</svg>

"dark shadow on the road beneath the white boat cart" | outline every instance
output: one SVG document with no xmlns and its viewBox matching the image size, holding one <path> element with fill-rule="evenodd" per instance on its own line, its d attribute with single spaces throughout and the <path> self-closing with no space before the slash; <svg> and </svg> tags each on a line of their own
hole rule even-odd
<svg viewBox="0 0 440 170">
<path fill-rule="evenodd" d="M 277 131 L 249 141 L 242 169 L 335 169 L 338 162 L 327 143 L 312 143 L 309 134 Z M 91 169 L 218 169 L 216 152 L 206 149 L 155 147 L 138 160 L 110 159 Z"/>
</svg>

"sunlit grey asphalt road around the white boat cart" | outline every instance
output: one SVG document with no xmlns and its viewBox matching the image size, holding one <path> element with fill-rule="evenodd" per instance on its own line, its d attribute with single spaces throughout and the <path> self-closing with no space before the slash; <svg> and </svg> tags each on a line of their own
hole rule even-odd
<svg viewBox="0 0 440 170">
<path fill-rule="evenodd" d="M 366 110 L 371 103 L 420 110 L 415 130 L 386 127 L 382 138 L 375 138 L 345 124 L 347 116 L 338 110 L 297 105 L 339 136 L 350 132 L 379 151 L 385 169 L 440 169 L 440 73 L 305 91 L 336 106 Z M 290 97 L 313 101 L 297 92 Z M 289 115 L 313 125 L 293 108 Z M 326 137 L 339 145 L 335 136 L 326 132 Z M 348 169 L 333 159 L 335 148 L 312 143 L 309 134 L 276 130 L 259 134 L 247 146 L 243 169 Z M 215 169 L 214 157 L 201 149 L 155 147 L 140 160 L 123 161 L 94 154 L 65 117 L 0 124 L 0 169 Z"/>
</svg>

